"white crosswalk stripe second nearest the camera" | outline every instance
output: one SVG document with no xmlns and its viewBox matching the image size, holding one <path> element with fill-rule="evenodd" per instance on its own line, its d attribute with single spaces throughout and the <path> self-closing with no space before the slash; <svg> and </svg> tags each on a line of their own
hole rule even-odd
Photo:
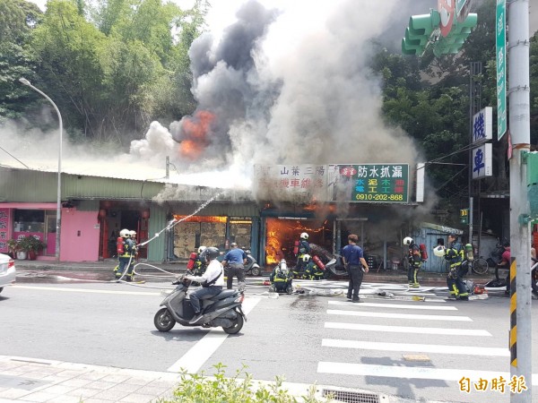
<svg viewBox="0 0 538 403">
<path fill-rule="evenodd" d="M 464 356 L 510 356 L 508 348 L 443 346 L 437 344 L 385 343 L 379 341 L 322 339 L 323 347 L 355 348 L 359 350 L 409 351 L 413 353 L 460 354 Z"/>
</svg>

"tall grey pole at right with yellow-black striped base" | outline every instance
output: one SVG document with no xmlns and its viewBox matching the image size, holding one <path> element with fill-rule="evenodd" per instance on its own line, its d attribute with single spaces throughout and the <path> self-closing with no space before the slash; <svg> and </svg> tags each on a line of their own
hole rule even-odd
<svg viewBox="0 0 538 403">
<path fill-rule="evenodd" d="M 530 151 L 529 3 L 508 2 L 508 107 L 510 158 L 510 381 L 526 389 L 510 394 L 511 402 L 531 403 L 532 324 L 530 207 L 525 184 L 525 154 Z M 516 314 L 514 314 L 516 313 Z M 515 321 L 514 321 L 515 316 Z M 515 334 L 514 334 L 515 333 Z"/>
</svg>

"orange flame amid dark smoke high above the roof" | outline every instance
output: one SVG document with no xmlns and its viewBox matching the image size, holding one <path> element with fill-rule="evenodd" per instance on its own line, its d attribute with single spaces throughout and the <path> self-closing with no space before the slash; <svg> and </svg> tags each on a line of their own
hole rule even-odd
<svg viewBox="0 0 538 403">
<path fill-rule="evenodd" d="M 197 159 L 209 143 L 207 134 L 215 115 L 208 110 L 199 110 L 194 116 L 181 119 L 181 133 L 185 139 L 179 144 L 179 153 L 189 159 Z"/>
</svg>

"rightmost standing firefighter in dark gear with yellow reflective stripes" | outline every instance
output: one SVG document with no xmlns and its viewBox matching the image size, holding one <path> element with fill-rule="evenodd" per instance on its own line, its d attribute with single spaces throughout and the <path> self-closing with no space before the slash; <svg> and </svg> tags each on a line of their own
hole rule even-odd
<svg viewBox="0 0 538 403">
<path fill-rule="evenodd" d="M 457 242 L 456 234 L 448 235 L 448 247 L 445 250 L 445 260 L 448 262 L 447 286 L 450 297 L 459 301 L 469 301 L 469 292 L 464 283 L 467 266 L 464 262 L 464 247 Z"/>
</svg>

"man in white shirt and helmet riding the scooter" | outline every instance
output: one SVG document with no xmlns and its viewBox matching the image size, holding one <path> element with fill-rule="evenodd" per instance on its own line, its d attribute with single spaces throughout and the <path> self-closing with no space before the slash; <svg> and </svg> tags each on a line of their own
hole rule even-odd
<svg viewBox="0 0 538 403">
<path fill-rule="evenodd" d="M 185 276 L 186 279 L 202 284 L 202 287 L 193 291 L 189 296 L 190 303 L 195 311 L 195 316 L 190 320 L 190 324 L 195 324 L 202 317 L 200 300 L 216 296 L 222 291 L 222 286 L 224 286 L 224 268 L 221 262 L 217 260 L 220 254 L 218 248 L 213 246 L 206 248 L 200 256 L 203 261 L 205 260 L 205 262 L 209 263 L 204 274 L 202 276 Z"/>
</svg>

